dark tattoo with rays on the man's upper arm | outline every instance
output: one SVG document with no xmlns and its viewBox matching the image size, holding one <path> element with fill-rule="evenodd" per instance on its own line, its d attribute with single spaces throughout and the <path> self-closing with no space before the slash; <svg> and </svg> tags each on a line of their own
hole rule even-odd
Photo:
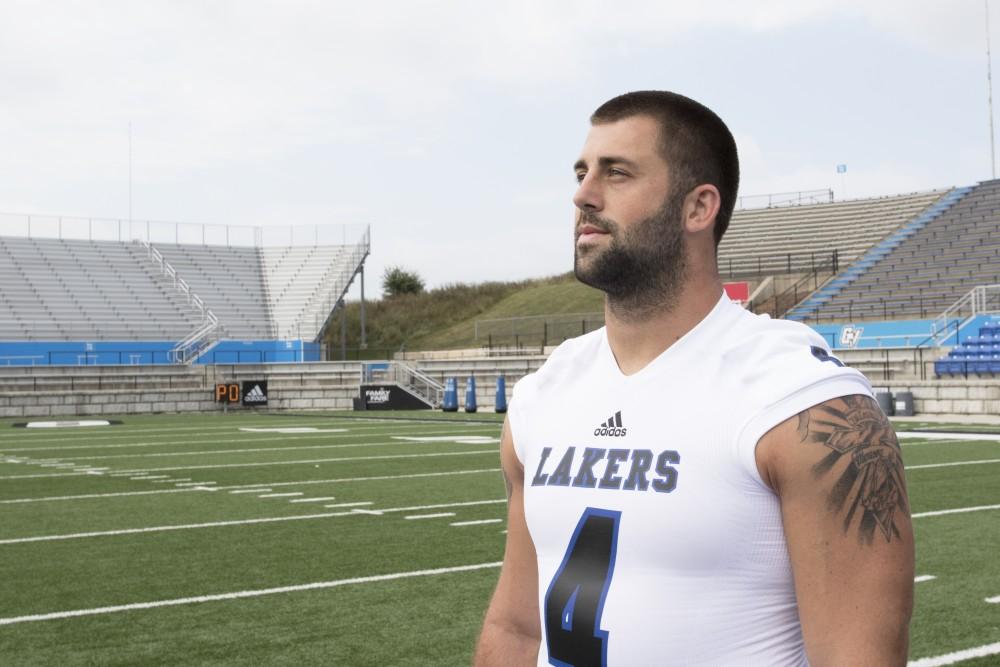
<svg viewBox="0 0 1000 667">
<path fill-rule="evenodd" d="M 831 451 L 813 466 L 821 479 L 843 457 L 849 463 L 830 491 L 827 507 L 844 513 L 844 533 L 857 524 L 858 540 L 871 544 L 876 529 L 886 542 L 899 538 L 894 516 L 909 512 L 903 458 L 896 434 L 878 405 L 868 397 L 845 396 L 799 414 L 799 437 Z"/>
</svg>

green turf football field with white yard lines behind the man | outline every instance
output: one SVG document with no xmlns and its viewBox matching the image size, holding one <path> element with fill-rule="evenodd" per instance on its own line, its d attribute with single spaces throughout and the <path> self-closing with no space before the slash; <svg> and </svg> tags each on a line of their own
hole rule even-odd
<svg viewBox="0 0 1000 667">
<path fill-rule="evenodd" d="M 117 419 L 0 420 L 0 663 L 469 664 L 498 417 Z M 901 439 L 911 664 L 1000 665 L 1000 439 L 932 428 Z"/>
</svg>

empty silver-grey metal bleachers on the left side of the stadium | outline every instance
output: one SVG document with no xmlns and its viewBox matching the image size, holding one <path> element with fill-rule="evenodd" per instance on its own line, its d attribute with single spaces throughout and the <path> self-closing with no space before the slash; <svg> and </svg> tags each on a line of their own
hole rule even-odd
<svg viewBox="0 0 1000 667">
<path fill-rule="evenodd" d="M 176 342 L 204 308 L 219 319 L 216 340 L 314 341 L 368 238 L 246 247 L 0 235 L 0 341 Z"/>
</svg>

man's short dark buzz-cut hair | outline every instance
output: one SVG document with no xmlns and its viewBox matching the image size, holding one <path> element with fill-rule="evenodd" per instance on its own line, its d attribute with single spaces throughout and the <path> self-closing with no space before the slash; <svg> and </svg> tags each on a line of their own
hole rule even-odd
<svg viewBox="0 0 1000 667">
<path fill-rule="evenodd" d="M 687 194 L 714 185 L 722 201 L 715 218 L 715 244 L 729 227 L 740 184 L 736 141 L 715 112 L 694 100 L 665 90 L 640 90 L 608 100 L 590 116 L 593 125 L 632 116 L 651 116 L 660 126 L 660 153 L 670 168 L 671 192 Z"/>
</svg>

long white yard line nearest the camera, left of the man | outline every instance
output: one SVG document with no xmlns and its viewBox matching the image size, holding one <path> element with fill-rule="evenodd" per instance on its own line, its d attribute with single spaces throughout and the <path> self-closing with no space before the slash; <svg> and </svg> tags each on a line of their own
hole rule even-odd
<svg viewBox="0 0 1000 667">
<path fill-rule="evenodd" d="M 299 584 L 297 586 L 281 586 L 279 588 L 262 588 L 258 590 L 236 591 L 233 593 L 219 593 L 216 595 L 199 595 L 189 598 L 175 598 L 173 600 L 158 600 L 156 602 L 137 602 L 133 604 L 116 605 L 113 607 L 95 607 L 93 609 L 74 609 L 72 611 L 57 611 L 48 614 L 34 614 L 32 616 L 14 616 L 10 618 L 0 618 L 0 625 L 13 625 L 15 623 L 31 623 L 35 621 L 52 621 L 63 618 L 74 618 L 77 616 L 96 616 L 98 614 L 113 614 L 122 611 L 138 611 L 141 609 L 157 609 L 159 607 L 175 607 L 178 605 L 197 604 L 201 602 L 218 602 L 222 600 L 237 600 L 241 598 L 261 597 L 263 595 L 276 595 L 279 593 L 298 593 L 301 591 L 314 591 L 324 588 L 335 588 L 337 586 L 350 586 L 353 584 L 370 584 L 379 581 L 392 581 L 394 579 L 408 579 L 411 577 L 429 577 L 438 574 L 452 574 L 455 572 L 471 572 L 474 570 L 485 570 L 500 567 L 501 563 L 476 563 L 474 565 L 459 565 L 456 567 L 441 567 L 433 570 L 414 570 L 411 572 L 395 572 L 392 574 L 378 574 L 370 577 L 354 577 L 351 579 L 337 579 L 334 581 L 318 581 L 310 584 Z"/>
</svg>

